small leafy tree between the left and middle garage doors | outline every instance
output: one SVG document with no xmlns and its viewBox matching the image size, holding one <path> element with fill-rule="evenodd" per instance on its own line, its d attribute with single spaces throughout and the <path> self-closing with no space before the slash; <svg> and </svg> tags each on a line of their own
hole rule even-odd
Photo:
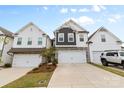
<svg viewBox="0 0 124 93">
<path fill-rule="evenodd" d="M 55 48 L 51 47 L 51 48 L 48 48 L 48 49 L 44 49 L 42 52 L 41 52 L 41 55 L 45 58 L 45 62 L 48 64 L 48 63 L 53 63 L 55 64 Z"/>
</svg>

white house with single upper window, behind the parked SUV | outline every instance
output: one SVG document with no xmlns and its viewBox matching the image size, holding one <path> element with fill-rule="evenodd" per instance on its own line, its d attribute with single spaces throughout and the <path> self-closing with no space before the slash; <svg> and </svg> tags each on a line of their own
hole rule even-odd
<svg viewBox="0 0 124 93">
<path fill-rule="evenodd" d="M 89 38 L 90 61 L 101 63 L 100 55 L 104 50 L 121 50 L 122 41 L 104 27 L 100 27 Z"/>
</svg>

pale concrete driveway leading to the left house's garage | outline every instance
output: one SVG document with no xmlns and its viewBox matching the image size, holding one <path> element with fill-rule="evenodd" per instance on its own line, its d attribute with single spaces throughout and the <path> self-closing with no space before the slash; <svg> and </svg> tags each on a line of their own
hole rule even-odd
<svg viewBox="0 0 124 93">
<path fill-rule="evenodd" d="M 3 68 L 0 70 L 0 87 L 4 86 L 29 72 L 32 68 Z"/>
</svg>

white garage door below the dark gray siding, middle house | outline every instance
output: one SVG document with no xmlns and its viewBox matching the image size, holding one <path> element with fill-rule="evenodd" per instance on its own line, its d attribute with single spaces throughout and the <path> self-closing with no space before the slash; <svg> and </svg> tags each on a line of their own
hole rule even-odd
<svg viewBox="0 0 124 93">
<path fill-rule="evenodd" d="M 78 50 L 58 51 L 59 63 L 86 63 L 86 52 Z"/>
</svg>

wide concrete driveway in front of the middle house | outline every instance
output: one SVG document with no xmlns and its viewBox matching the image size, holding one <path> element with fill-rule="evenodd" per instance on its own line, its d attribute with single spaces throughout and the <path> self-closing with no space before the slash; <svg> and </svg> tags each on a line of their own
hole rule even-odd
<svg viewBox="0 0 124 93">
<path fill-rule="evenodd" d="M 102 70 L 90 64 L 59 64 L 48 87 L 124 87 L 124 77 Z"/>
</svg>

